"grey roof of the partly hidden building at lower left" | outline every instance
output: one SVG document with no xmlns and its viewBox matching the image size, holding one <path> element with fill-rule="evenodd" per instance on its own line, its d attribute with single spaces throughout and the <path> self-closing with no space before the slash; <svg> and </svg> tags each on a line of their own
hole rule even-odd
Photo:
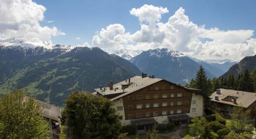
<svg viewBox="0 0 256 139">
<path fill-rule="evenodd" d="M 46 117 L 55 121 L 59 121 L 59 118 L 61 118 L 61 108 L 46 102 L 42 102 L 40 100 L 36 100 L 36 101 L 41 103 L 41 107 L 43 108 L 42 110 L 43 117 Z"/>
</svg>

